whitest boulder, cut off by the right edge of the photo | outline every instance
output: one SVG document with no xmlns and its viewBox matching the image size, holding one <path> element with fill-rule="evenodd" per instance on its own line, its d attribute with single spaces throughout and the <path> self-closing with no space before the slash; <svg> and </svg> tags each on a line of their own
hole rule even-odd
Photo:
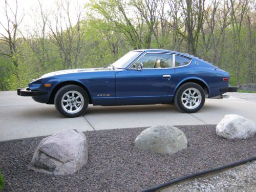
<svg viewBox="0 0 256 192">
<path fill-rule="evenodd" d="M 216 126 L 216 134 L 226 139 L 246 139 L 255 133 L 255 123 L 240 115 L 225 115 Z"/>
</svg>

